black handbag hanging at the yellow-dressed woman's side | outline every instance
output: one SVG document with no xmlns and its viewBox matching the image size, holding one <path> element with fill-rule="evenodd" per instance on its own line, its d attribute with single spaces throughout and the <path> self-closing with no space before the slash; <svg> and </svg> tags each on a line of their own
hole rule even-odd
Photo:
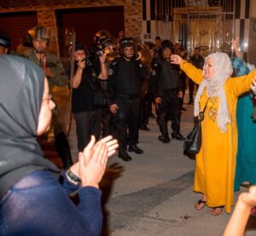
<svg viewBox="0 0 256 236">
<path fill-rule="evenodd" d="M 207 102 L 208 101 L 209 99 L 207 100 Z M 199 112 L 197 124 L 195 124 L 195 127 L 189 133 L 189 135 L 186 137 L 184 141 L 183 150 L 185 153 L 197 154 L 201 149 L 201 122 L 204 119 L 204 113 L 206 111 L 206 108 L 207 108 L 207 103 L 203 111 Z"/>
</svg>

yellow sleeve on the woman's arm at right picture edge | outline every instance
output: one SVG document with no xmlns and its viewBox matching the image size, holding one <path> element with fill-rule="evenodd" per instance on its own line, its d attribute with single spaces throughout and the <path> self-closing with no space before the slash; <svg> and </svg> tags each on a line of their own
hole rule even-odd
<svg viewBox="0 0 256 236">
<path fill-rule="evenodd" d="M 256 70 L 248 73 L 245 76 L 229 78 L 227 80 L 227 87 L 230 89 L 230 92 L 238 97 L 243 93 L 251 89 L 251 83 L 253 83 L 253 78 L 256 78 Z"/>
</svg>

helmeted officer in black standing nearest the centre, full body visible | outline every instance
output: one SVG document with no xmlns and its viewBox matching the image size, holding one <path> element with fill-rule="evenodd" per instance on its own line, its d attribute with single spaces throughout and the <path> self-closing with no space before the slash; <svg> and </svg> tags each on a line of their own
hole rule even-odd
<svg viewBox="0 0 256 236">
<path fill-rule="evenodd" d="M 130 161 L 126 152 L 142 154 L 137 147 L 141 80 L 147 78 L 147 71 L 136 60 L 137 44 L 131 37 L 120 41 L 120 57 L 113 60 L 108 71 L 108 93 L 110 111 L 113 113 L 113 133 L 119 141 L 119 158 Z M 128 128 L 128 133 L 127 133 Z"/>
</svg>

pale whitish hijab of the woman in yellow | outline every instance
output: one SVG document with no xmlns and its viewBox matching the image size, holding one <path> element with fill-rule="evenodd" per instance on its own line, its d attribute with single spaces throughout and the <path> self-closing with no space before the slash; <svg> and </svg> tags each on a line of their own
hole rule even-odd
<svg viewBox="0 0 256 236">
<path fill-rule="evenodd" d="M 222 132 L 226 132 L 227 124 L 230 123 L 230 115 L 228 111 L 227 98 L 224 93 L 224 83 L 230 78 L 233 68 L 231 66 L 230 57 L 225 53 L 214 53 L 208 55 L 213 61 L 214 75 L 212 78 L 204 78 L 195 95 L 195 116 L 200 112 L 199 101 L 204 89 L 207 88 L 208 97 L 218 97 L 218 115 L 217 125 Z M 206 61 L 207 61 L 206 58 Z M 203 70 L 204 73 L 204 70 Z"/>
</svg>

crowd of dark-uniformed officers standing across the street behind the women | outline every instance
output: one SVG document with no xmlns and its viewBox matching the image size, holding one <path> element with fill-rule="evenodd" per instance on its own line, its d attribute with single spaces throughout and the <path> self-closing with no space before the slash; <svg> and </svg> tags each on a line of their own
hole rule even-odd
<svg viewBox="0 0 256 236">
<path fill-rule="evenodd" d="M 35 26 L 28 31 L 20 53 L 43 68 L 50 87 L 72 87 L 79 152 L 89 143 L 91 135 L 96 139 L 113 135 L 119 141 L 119 158 L 130 161 L 132 158 L 127 151 L 143 153 L 137 146 L 139 130 L 149 131 L 150 117 L 156 118 L 159 125 L 159 141 L 168 143 L 171 136 L 183 141 L 180 118 L 185 111 L 183 97 L 188 78 L 170 61 L 174 53 L 188 59 L 181 45 L 170 40 L 161 41 L 160 37 L 155 37 L 154 43 L 141 45 L 124 35 L 114 42 L 107 31 L 96 32 L 94 40 L 91 49 L 83 43 L 75 43 L 73 76 L 68 76 L 71 67 L 64 69 L 61 60 L 49 53 L 49 35 L 45 27 Z M 0 34 L 0 54 L 7 54 L 9 47 L 9 37 Z M 199 67 L 203 65 L 200 49 L 195 49 L 193 60 Z M 193 91 L 191 93 L 189 103 L 193 100 Z M 55 147 L 63 168 L 68 169 L 73 161 L 59 115 L 56 106 L 53 115 Z M 172 124 L 171 136 L 169 121 Z"/>
</svg>

